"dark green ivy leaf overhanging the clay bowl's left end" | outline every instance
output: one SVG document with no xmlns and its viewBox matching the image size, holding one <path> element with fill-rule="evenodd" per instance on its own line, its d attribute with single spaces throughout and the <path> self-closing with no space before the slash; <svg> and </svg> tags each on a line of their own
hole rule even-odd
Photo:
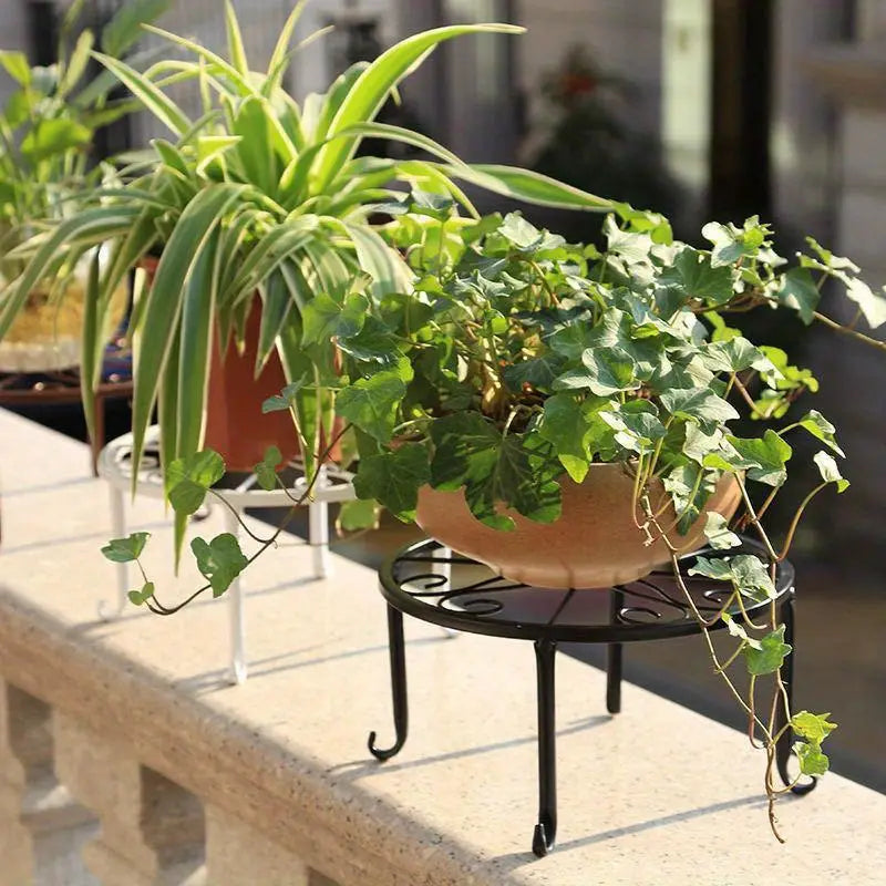
<svg viewBox="0 0 886 886">
<path fill-rule="evenodd" d="M 427 450 L 422 443 L 404 443 L 393 451 L 361 459 L 353 485 L 360 498 L 387 507 L 398 519 L 414 518 L 419 488 L 431 480 Z"/>
</svg>

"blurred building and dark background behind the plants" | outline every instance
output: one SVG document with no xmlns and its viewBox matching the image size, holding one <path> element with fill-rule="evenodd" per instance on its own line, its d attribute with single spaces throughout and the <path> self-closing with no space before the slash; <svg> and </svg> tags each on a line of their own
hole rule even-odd
<svg viewBox="0 0 886 886">
<path fill-rule="evenodd" d="M 101 21 L 123 1 L 92 0 L 92 14 Z M 234 4 L 260 66 L 292 0 Z M 220 48 L 222 9 L 222 0 L 174 0 L 163 23 Z M 50 61 L 55 10 L 52 0 L 2 0 L 0 44 Z M 385 109 L 389 119 L 408 115 L 466 159 L 521 163 L 660 209 L 688 240 L 710 218 L 758 214 L 776 226 L 783 255 L 812 235 L 851 256 L 872 285 L 886 282 L 886 0 L 313 0 L 297 40 L 336 30 L 295 55 L 287 87 L 298 97 L 322 91 L 344 65 L 405 34 L 493 20 L 527 33 L 443 45 L 408 81 L 402 106 Z M 162 134 L 147 120 L 127 125 L 109 135 L 113 144 Z M 570 237 L 596 234 L 593 218 L 535 215 Z M 816 502 L 795 549 L 801 707 L 804 687 L 833 699 L 844 723 L 836 767 L 886 790 L 886 361 L 774 316 L 755 332 L 826 370 L 817 402 L 806 403 L 841 429 L 853 481 L 844 496 Z M 371 559 L 379 545 L 353 553 Z M 733 719 L 714 680 L 697 673 L 698 650 L 666 646 L 638 651 L 633 678 Z"/>
</svg>

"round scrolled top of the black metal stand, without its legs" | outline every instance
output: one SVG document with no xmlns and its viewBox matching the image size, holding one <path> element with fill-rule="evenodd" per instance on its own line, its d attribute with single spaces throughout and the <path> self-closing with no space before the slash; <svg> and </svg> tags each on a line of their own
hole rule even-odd
<svg viewBox="0 0 886 886">
<path fill-rule="evenodd" d="M 735 554 L 762 555 L 751 539 L 741 548 L 700 550 L 709 558 Z M 681 559 L 681 576 L 697 608 L 712 619 L 731 593 L 724 581 L 690 576 L 696 555 Z M 611 588 L 557 590 L 511 581 L 466 557 L 451 554 L 434 540 L 416 542 L 385 560 L 379 571 L 381 593 L 401 612 L 455 630 L 554 642 L 629 642 L 699 633 L 683 591 L 664 567 Z M 794 587 L 794 567 L 783 560 L 775 575 L 776 600 Z M 608 591 L 608 593 L 607 593 Z M 617 615 L 610 614 L 611 595 L 619 594 Z M 770 601 L 749 606 L 753 618 Z M 736 617 L 741 617 L 738 606 Z M 723 627 L 719 620 L 713 627 Z"/>
</svg>

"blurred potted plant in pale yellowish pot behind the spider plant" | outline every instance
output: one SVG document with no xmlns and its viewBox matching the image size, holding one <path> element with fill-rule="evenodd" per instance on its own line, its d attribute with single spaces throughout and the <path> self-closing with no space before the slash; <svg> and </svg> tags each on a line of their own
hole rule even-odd
<svg viewBox="0 0 886 886">
<path fill-rule="evenodd" d="M 111 56 L 123 56 L 141 35 L 141 24 L 167 6 L 137 0 L 101 31 Z M 16 89 L 0 114 L 0 371 L 44 372 L 78 365 L 85 308 L 85 261 L 56 260 L 22 297 L 10 299 L 11 284 L 24 269 L 16 248 L 44 226 L 71 218 L 75 200 L 116 179 L 105 158 L 91 156 L 95 133 L 137 107 L 113 99 L 106 73 L 90 76 L 92 29 L 75 33 L 83 2 L 72 3 L 62 21 L 58 61 L 31 66 L 22 52 L 0 52 L 0 64 Z M 137 59 L 133 59 L 136 62 Z M 126 308 L 125 286 L 109 297 L 96 337 L 104 343 Z"/>
</svg>

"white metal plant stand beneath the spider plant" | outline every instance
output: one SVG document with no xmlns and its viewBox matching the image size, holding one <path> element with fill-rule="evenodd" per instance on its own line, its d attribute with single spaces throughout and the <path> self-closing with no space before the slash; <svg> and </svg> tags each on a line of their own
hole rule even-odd
<svg viewBox="0 0 886 886">
<path fill-rule="evenodd" d="M 159 470 L 157 429 L 148 431 L 145 443 L 145 455 L 138 470 L 136 494 L 152 498 L 163 498 L 163 475 Z M 126 535 L 126 516 L 124 495 L 132 488 L 132 434 L 124 434 L 111 441 L 99 456 L 99 475 L 107 481 L 111 493 L 111 519 L 115 536 Z M 298 463 L 292 463 L 298 468 Z M 305 505 L 308 508 L 308 543 L 313 553 L 313 577 L 326 578 L 331 569 L 329 559 L 329 504 L 330 502 L 348 502 L 354 497 L 352 475 L 347 471 L 329 466 L 321 468 L 315 483 L 311 499 Z M 290 495 L 300 497 L 307 491 L 303 476 L 296 480 L 290 487 Z M 243 513 L 247 507 L 290 507 L 291 498 L 282 490 L 266 492 L 258 486 L 255 474 L 234 488 L 215 488 L 214 492 L 224 497 L 230 508 L 225 508 L 226 528 L 235 536 L 239 535 L 239 524 L 234 512 Z M 99 604 L 99 616 L 106 621 L 119 618 L 128 602 L 130 569 L 128 564 L 117 564 L 117 599 L 111 605 L 107 600 Z M 244 589 L 236 578 L 227 591 L 230 617 L 230 679 L 235 683 L 246 681 L 248 667 L 246 662 L 246 628 L 244 622 Z"/>
</svg>

